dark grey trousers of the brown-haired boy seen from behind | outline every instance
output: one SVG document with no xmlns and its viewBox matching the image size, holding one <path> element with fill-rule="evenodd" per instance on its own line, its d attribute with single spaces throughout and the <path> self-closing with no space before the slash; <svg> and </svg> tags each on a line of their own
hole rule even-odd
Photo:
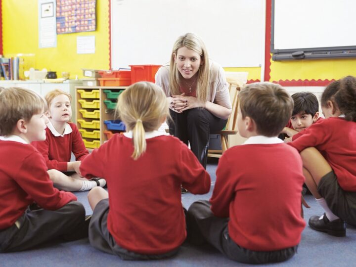
<svg viewBox="0 0 356 267">
<path fill-rule="evenodd" d="M 227 258 L 247 264 L 284 262 L 297 252 L 298 246 L 268 252 L 240 247 L 229 236 L 228 221 L 228 218 L 214 216 L 209 201 L 194 202 L 186 215 L 188 242 L 197 245 L 207 241 Z"/>
</svg>

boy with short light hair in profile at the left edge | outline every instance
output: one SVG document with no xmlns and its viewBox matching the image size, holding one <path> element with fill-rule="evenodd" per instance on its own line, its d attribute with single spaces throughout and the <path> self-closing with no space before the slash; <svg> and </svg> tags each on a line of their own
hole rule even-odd
<svg viewBox="0 0 356 267">
<path fill-rule="evenodd" d="M 45 109 L 31 90 L 0 90 L 0 252 L 26 250 L 84 226 L 83 205 L 53 187 L 44 158 L 30 145 L 45 140 Z"/>
</svg>

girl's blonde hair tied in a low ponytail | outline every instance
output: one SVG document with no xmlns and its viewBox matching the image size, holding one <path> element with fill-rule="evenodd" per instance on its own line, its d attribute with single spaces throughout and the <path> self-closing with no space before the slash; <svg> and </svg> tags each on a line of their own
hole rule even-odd
<svg viewBox="0 0 356 267">
<path fill-rule="evenodd" d="M 169 117 L 166 95 L 153 83 L 135 83 L 120 94 L 116 114 L 133 132 L 132 158 L 136 160 L 146 151 L 145 132 L 158 129 L 162 120 Z"/>
</svg>

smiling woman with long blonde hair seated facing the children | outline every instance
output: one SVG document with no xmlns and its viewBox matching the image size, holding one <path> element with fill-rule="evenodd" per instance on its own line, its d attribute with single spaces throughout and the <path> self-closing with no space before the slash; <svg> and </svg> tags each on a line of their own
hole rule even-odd
<svg viewBox="0 0 356 267">
<path fill-rule="evenodd" d="M 203 41 L 188 33 L 178 38 L 170 65 L 162 66 L 155 79 L 169 103 L 170 134 L 189 142 L 206 168 L 209 134 L 221 131 L 231 113 L 223 68 L 209 60 Z"/>
</svg>

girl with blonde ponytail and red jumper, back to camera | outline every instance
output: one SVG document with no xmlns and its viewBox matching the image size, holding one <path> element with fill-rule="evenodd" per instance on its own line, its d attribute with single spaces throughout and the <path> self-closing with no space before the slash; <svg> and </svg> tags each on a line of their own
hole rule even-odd
<svg viewBox="0 0 356 267">
<path fill-rule="evenodd" d="M 89 242 L 125 260 L 170 257 L 186 237 L 180 186 L 204 194 L 210 176 L 186 144 L 157 131 L 169 116 L 160 87 L 130 86 L 116 111 L 129 132 L 114 134 L 80 166 L 82 175 L 108 184 L 108 192 L 95 187 L 88 194 Z"/>
</svg>

